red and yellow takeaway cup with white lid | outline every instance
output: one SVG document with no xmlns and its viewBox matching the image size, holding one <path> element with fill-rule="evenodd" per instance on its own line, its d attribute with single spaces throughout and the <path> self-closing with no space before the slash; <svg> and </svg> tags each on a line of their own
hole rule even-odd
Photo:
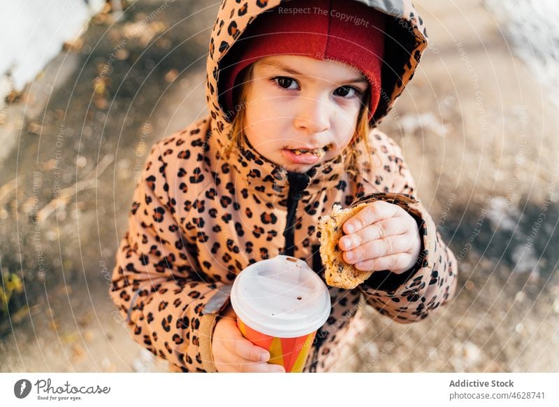
<svg viewBox="0 0 559 407">
<path fill-rule="evenodd" d="M 331 309 L 328 287 L 317 273 L 284 255 L 241 271 L 231 288 L 231 305 L 243 336 L 270 352 L 268 362 L 298 373 Z"/>
</svg>

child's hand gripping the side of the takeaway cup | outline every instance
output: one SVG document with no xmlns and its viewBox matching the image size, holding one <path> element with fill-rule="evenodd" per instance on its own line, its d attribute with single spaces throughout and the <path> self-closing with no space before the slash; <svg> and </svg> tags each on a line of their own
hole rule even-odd
<svg viewBox="0 0 559 407">
<path fill-rule="evenodd" d="M 270 364 L 270 352 L 242 336 L 237 315 L 229 305 L 215 325 L 212 353 L 219 372 L 285 373 L 283 366 Z"/>
</svg>

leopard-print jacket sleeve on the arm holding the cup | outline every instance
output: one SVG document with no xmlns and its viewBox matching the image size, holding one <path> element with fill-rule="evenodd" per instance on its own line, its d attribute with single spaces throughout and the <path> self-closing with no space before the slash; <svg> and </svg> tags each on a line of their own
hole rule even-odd
<svg viewBox="0 0 559 407">
<path fill-rule="evenodd" d="M 201 273 L 195 242 L 180 232 L 159 148 L 152 148 L 136 185 L 110 297 L 134 340 L 173 371 L 216 371 L 211 336 L 228 287 Z"/>
</svg>

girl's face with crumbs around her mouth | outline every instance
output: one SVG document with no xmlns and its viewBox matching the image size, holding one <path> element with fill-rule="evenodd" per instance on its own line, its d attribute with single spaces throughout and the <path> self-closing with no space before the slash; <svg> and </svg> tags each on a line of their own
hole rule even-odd
<svg viewBox="0 0 559 407">
<path fill-rule="evenodd" d="M 353 66 L 297 55 L 259 59 L 247 85 L 248 141 L 293 172 L 340 155 L 355 134 L 369 87 Z"/>
</svg>

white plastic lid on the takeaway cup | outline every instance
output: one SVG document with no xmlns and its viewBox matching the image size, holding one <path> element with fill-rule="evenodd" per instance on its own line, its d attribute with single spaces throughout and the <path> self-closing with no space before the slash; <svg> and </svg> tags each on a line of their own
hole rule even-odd
<svg viewBox="0 0 559 407">
<path fill-rule="evenodd" d="M 316 331 L 330 315 L 328 287 L 303 260 L 279 255 L 241 271 L 231 288 L 237 316 L 262 334 L 296 338 Z"/>
</svg>

